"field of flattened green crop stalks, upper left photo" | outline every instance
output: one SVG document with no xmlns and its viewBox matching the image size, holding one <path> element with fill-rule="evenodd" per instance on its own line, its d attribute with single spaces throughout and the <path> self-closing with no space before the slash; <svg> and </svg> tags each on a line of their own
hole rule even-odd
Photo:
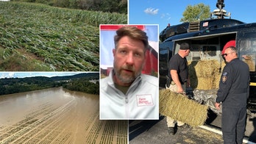
<svg viewBox="0 0 256 144">
<path fill-rule="evenodd" d="M 99 24 L 127 15 L 0 1 L 0 71 L 99 71 Z"/>
</svg>

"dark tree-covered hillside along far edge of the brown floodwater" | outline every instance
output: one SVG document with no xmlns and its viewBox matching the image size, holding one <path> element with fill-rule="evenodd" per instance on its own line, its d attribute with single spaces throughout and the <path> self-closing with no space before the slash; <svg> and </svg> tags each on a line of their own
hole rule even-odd
<svg viewBox="0 0 256 144">
<path fill-rule="evenodd" d="M 94 80 L 94 81 L 93 81 Z M 35 76 L 0 79 L 0 96 L 51 87 L 99 95 L 99 73 L 80 73 L 74 76 Z"/>
</svg>

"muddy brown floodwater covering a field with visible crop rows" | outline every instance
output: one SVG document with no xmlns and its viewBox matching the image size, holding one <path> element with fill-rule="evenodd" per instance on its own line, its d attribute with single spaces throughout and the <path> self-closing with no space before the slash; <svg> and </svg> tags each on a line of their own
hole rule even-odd
<svg viewBox="0 0 256 144">
<path fill-rule="evenodd" d="M 0 96 L 0 143 L 127 143 L 127 120 L 99 120 L 99 96 L 63 88 Z"/>
</svg>

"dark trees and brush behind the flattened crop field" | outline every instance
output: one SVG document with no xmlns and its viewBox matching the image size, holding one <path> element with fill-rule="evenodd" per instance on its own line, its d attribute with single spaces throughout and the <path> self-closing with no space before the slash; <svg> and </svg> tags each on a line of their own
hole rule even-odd
<svg viewBox="0 0 256 144">
<path fill-rule="evenodd" d="M 127 14 L 127 0 L 11 0 L 48 4 L 53 7 L 65 7 L 79 10 L 118 12 Z"/>
</svg>

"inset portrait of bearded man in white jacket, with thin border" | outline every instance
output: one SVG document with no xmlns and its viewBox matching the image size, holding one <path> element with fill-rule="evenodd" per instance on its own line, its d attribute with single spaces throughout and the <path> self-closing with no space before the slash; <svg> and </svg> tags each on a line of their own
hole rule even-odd
<svg viewBox="0 0 256 144">
<path fill-rule="evenodd" d="M 100 25 L 100 119 L 159 119 L 157 24 Z"/>
</svg>

